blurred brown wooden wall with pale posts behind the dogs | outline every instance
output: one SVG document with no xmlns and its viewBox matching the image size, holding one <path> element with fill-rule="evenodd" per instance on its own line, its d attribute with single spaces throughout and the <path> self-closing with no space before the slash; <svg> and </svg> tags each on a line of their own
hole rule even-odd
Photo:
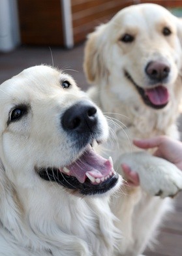
<svg viewBox="0 0 182 256">
<path fill-rule="evenodd" d="M 1 0 L 0 49 L 19 44 L 72 48 L 121 8 L 147 2 L 178 11 L 181 7 L 175 0 Z"/>
</svg>

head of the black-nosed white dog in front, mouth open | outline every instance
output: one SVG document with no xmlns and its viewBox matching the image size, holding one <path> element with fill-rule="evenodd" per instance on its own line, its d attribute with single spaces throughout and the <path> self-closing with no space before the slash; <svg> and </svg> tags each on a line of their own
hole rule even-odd
<svg viewBox="0 0 182 256">
<path fill-rule="evenodd" d="M 16 186 L 53 181 L 94 195 L 117 184 L 112 161 L 92 148 L 106 140 L 106 120 L 68 74 L 44 65 L 25 69 L 1 84 L 0 110 L 1 160 Z"/>
</svg>

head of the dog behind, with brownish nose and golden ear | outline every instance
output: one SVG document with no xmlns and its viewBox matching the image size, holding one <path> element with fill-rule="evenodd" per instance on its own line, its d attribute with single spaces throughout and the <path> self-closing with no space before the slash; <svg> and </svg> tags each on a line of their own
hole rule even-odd
<svg viewBox="0 0 182 256">
<path fill-rule="evenodd" d="M 182 22 L 155 4 L 124 8 L 88 37 L 84 70 L 123 101 L 164 108 L 181 69 Z"/>
</svg>

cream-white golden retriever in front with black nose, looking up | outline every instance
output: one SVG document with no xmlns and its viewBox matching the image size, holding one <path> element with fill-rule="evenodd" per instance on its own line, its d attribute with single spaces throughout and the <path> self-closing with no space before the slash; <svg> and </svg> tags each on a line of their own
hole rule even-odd
<svg viewBox="0 0 182 256">
<path fill-rule="evenodd" d="M 113 256 L 122 179 L 92 148 L 108 136 L 100 109 L 40 65 L 1 84 L 0 110 L 0 255 Z"/>
</svg>

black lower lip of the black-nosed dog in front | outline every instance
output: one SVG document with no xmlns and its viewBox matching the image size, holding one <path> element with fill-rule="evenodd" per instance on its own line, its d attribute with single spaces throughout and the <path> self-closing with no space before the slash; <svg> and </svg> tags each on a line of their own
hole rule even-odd
<svg viewBox="0 0 182 256">
<path fill-rule="evenodd" d="M 81 195 L 97 195 L 106 193 L 112 189 L 119 180 L 119 175 L 115 173 L 112 177 L 108 178 L 108 180 L 95 185 L 91 184 L 88 178 L 84 183 L 80 183 L 75 177 L 68 176 L 63 172 L 60 172 L 57 168 L 38 168 L 37 173 L 40 178 L 49 182 L 56 182 L 67 189 L 78 191 Z"/>
</svg>

